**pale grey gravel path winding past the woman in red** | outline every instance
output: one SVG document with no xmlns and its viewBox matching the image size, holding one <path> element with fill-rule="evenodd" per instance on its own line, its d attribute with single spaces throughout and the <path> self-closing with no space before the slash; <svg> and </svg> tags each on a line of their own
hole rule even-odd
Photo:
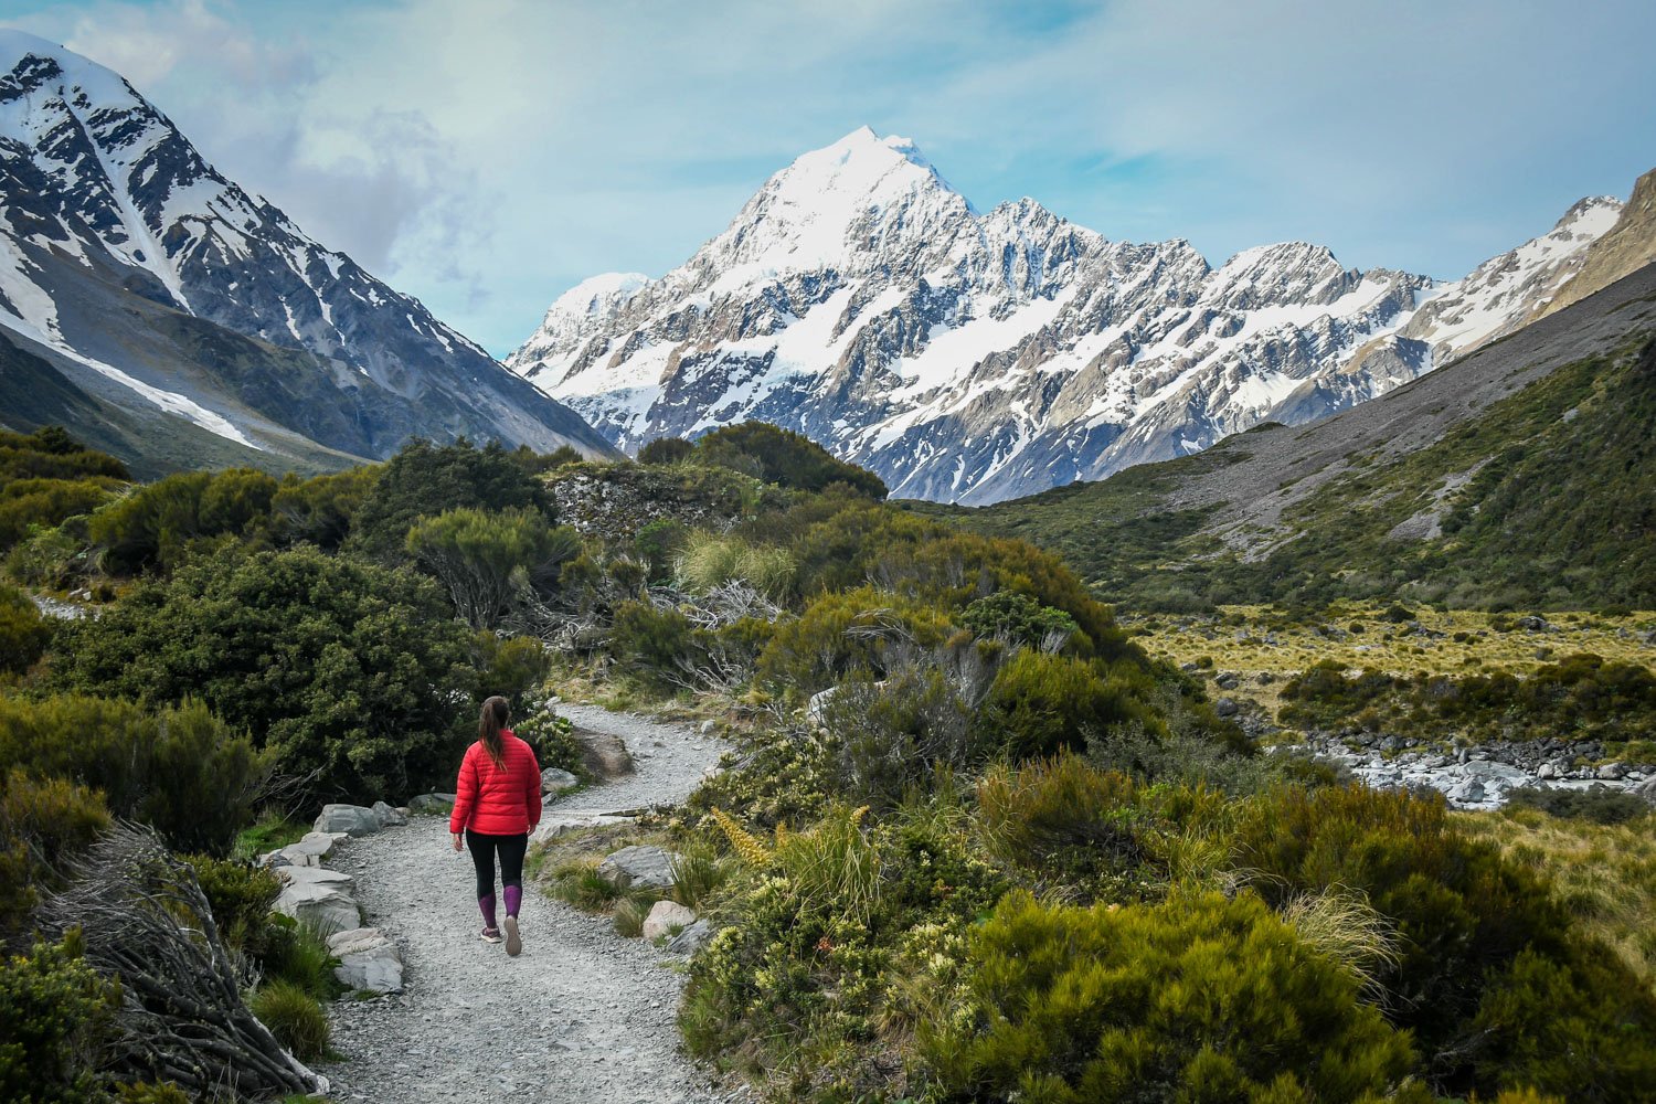
<svg viewBox="0 0 1656 1104">
<path fill-rule="evenodd" d="M 682 801 L 724 751 L 689 725 L 560 708 L 621 737 L 638 771 L 548 804 L 546 819 Z M 472 862 L 450 849 L 445 818 L 351 841 L 328 866 L 356 876 L 368 924 L 396 940 L 407 980 L 401 995 L 335 1006 L 335 1048 L 348 1056 L 321 1068 L 335 1101 L 724 1099 L 679 1053 L 682 978 L 664 952 L 533 892 L 518 958 L 477 938 Z"/>
</svg>

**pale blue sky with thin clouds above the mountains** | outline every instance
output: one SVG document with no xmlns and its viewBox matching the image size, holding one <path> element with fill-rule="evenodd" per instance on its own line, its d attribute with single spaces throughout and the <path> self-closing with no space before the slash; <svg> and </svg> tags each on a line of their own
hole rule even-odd
<svg viewBox="0 0 1656 1104">
<path fill-rule="evenodd" d="M 1656 166 L 1649 0 L 0 0 L 0 25 L 121 71 L 495 354 L 861 124 L 982 210 L 1437 276 Z"/>
</svg>

